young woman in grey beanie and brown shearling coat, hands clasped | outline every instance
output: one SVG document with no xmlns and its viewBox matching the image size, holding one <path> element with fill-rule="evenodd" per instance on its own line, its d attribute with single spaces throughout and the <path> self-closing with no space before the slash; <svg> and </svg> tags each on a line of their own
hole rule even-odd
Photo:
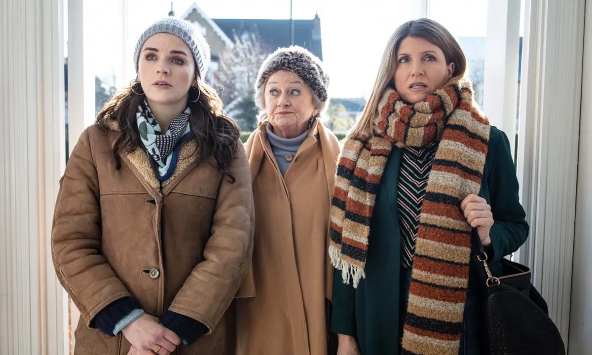
<svg viewBox="0 0 592 355">
<path fill-rule="evenodd" d="M 75 353 L 223 354 L 253 242 L 239 128 L 202 79 L 194 25 L 155 22 L 134 61 L 60 181 L 52 256 L 81 312 Z"/>
</svg>

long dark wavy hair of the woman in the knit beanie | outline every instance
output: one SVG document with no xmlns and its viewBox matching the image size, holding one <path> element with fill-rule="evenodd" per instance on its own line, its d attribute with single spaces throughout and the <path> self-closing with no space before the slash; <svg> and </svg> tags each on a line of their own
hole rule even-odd
<svg viewBox="0 0 592 355">
<path fill-rule="evenodd" d="M 207 83 L 197 80 L 197 88 L 189 88 L 188 95 L 192 100 L 199 96 L 196 102 L 188 100 L 188 105 L 191 108 L 189 127 L 195 133 L 200 159 L 213 155 L 218 170 L 234 183 L 234 176 L 228 172 L 228 168 L 240 137 L 239 126 L 224 114 L 220 97 Z M 121 154 L 130 153 L 140 145 L 136 112 L 144 97 L 140 83 L 134 80 L 130 86 L 115 92 L 96 115 L 95 124 L 105 131 L 108 130 L 107 121 L 115 121 L 118 124 L 121 135 L 113 146 L 113 159 L 117 170 L 121 167 Z"/>
</svg>

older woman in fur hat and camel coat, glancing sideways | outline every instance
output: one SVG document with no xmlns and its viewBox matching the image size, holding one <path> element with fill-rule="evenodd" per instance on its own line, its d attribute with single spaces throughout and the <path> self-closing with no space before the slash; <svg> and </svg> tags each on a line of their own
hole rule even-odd
<svg viewBox="0 0 592 355">
<path fill-rule="evenodd" d="M 245 146 L 255 247 L 236 302 L 238 354 L 327 354 L 329 211 L 339 155 L 322 122 L 328 84 L 321 61 L 301 47 L 276 50 L 259 69 L 260 122 Z"/>
</svg>

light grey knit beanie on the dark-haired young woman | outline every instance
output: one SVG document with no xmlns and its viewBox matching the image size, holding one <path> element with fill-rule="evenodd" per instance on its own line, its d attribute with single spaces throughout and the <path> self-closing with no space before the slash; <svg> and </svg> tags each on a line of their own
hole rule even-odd
<svg viewBox="0 0 592 355">
<path fill-rule="evenodd" d="M 162 20 L 156 21 L 140 35 L 134 53 L 136 72 L 138 71 L 138 61 L 142 46 L 144 46 L 148 38 L 157 33 L 170 33 L 181 38 L 187 44 L 191 53 L 193 53 L 198 69 L 197 75 L 202 79 L 204 78 L 210 65 L 210 46 L 208 46 L 204 36 L 201 35 L 200 30 L 194 24 L 176 17 L 165 17 Z"/>
</svg>

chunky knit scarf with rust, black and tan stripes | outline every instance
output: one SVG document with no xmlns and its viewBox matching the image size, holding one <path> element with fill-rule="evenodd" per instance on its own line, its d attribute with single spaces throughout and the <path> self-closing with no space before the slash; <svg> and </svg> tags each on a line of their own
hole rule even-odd
<svg viewBox="0 0 592 355">
<path fill-rule="evenodd" d="M 356 288 L 365 277 L 372 209 L 393 144 L 422 147 L 440 141 L 420 215 L 404 354 L 458 354 L 472 231 L 460 205 L 480 191 L 489 132 L 472 83 L 461 79 L 414 105 L 387 88 L 372 131 L 348 138 L 343 146 L 329 253 L 343 282 L 353 279 Z"/>
</svg>

